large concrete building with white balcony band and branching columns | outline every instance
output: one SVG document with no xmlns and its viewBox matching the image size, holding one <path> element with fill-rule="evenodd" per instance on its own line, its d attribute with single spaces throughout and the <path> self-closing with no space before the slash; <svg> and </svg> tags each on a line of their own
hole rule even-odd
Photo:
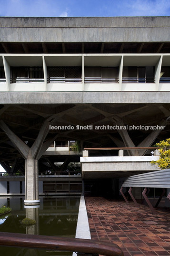
<svg viewBox="0 0 170 256">
<path fill-rule="evenodd" d="M 0 17 L 0 163 L 25 172 L 25 203 L 39 203 L 38 174 L 80 161 L 51 145 L 146 148 L 170 137 L 169 121 L 170 17 Z M 157 170 L 148 149 L 118 151 L 84 155 L 83 179 Z"/>
</svg>

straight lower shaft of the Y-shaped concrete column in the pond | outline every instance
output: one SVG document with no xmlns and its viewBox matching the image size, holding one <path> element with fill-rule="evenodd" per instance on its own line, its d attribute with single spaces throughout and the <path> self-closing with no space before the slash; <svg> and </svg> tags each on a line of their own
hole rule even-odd
<svg viewBox="0 0 170 256">
<path fill-rule="evenodd" d="M 38 160 L 25 160 L 25 205 L 36 205 L 40 203 L 39 200 L 39 171 Z"/>
</svg>

